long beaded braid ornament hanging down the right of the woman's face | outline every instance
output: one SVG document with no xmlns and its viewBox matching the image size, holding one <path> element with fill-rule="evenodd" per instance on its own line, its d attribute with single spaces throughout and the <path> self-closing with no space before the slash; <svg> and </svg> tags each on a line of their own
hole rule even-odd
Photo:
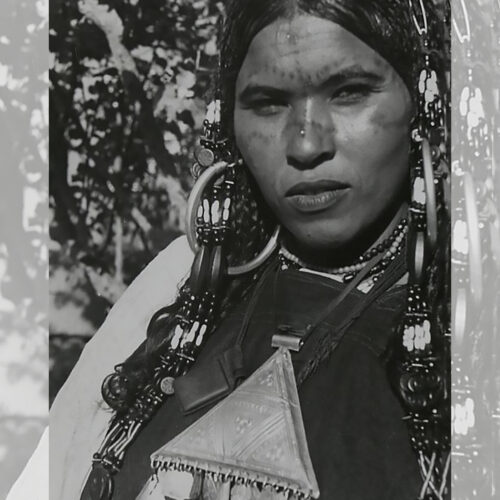
<svg viewBox="0 0 500 500">
<path fill-rule="evenodd" d="M 442 500 L 449 491 L 450 438 L 449 394 L 446 379 L 449 365 L 449 335 L 431 321 L 427 265 L 436 249 L 438 201 L 443 198 L 445 174 L 443 147 L 446 101 L 441 97 L 437 54 L 431 46 L 429 20 L 424 2 L 409 0 L 419 34 L 423 67 L 417 97 L 418 120 L 412 131 L 416 157 L 411 178 L 407 262 L 409 271 L 406 312 L 401 326 L 399 392 L 408 411 L 410 441 L 418 455 L 423 476 L 419 500 Z M 436 322 L 437 323 L 437 322 Z"/>
</svg>

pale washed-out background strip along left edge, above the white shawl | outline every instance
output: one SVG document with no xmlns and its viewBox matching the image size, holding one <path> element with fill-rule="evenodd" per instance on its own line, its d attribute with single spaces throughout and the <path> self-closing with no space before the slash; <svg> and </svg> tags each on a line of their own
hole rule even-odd
<svg viewBox="0 0 500 500">
<path fill-rule="evenodd" d="M 47 425 L 47 0 L 0 2 L 0 498 Z"/>
</svg>

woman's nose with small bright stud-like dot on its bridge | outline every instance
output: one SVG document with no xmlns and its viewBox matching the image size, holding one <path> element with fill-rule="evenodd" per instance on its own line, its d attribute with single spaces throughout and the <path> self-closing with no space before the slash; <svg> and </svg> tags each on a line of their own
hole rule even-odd
<svg viewBox="0 0 500 500">
<path fill-rule="evenodd" d="M 289 165 L 299 169 L 314 168 L 331 160 L 335 150 L 334 125 L 328 109 L 308 103 L 301 118 L 291 117 L 287 133 Z"/>
</svg>

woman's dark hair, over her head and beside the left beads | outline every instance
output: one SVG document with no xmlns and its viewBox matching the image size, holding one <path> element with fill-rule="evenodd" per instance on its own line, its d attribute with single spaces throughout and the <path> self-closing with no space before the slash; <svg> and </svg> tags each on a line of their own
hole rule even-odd
<svg viewBox="0 0 500 500">
<path fill-rule="evenodd" d="M 430 26 L 437 19 L 429 4 Z M 411 19 L 407 0 L 229 0 L 220 36 L 220 68 L 216 89 L 222 99 L 223 132 L 233 139 L 233 111 L 236 78 L 253 38 L 266 26 L 280 18 L 298 13 L 331 20 L 379 52 L 400 74 L 414 94 L 422 58 L 419 40 Z M 436 32 L 437 33 L 437 32 Z M 439 43 L 438 34 L 432 37 Z M 245 168 L 239 169 L 237 192 L 233 196 L 232 234 L 224 246 L 228 262 L 248 261 L 258 253 L 272 231 L 274 220 L 266 209 L 255 182 Z M 217 319 L 241 300 L 261 272 L 226 280 L 217 296 Z M 176 317 L 181 312 L 183 297 L 189 295 L 189 282 L 180 288 L 179 297 L 171 306 L 155 314 L 147 332 L 146 342 L 119 368 L 125 387 L 113 386 L 113 379 L 103 384 L 103 396 L 115 410 L 130 405 L 141 388 L 148 383 L 159 355 L 171 336 Z M 215 330 L 217 321 L 212 325 Z M 116 380 L 116 378 L 114 379 Z"/>
</svg>

